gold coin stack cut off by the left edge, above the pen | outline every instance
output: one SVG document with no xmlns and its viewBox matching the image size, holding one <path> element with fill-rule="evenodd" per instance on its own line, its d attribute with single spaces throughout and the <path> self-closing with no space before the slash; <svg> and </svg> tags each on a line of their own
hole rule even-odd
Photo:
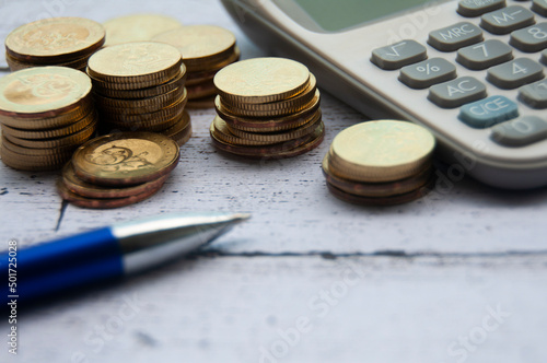
<svg viewBox="0 0 547 363">
<path fill-rule="evenodd" d="M 91 139 L 97 117 L 91 80 L 65 67 L 35 67 L 0 79 L 2 162 L 16 169 L 61 168 Z"/>
</svg>

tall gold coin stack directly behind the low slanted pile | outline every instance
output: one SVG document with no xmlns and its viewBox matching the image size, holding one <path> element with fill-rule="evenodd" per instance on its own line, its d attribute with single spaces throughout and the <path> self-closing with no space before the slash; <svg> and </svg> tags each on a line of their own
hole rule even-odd
<svg viewBox="0 0 547 363">
<path fill-rule="evenodd" d="M 160 132 L 181 145 L 189 139 L 186 67 L 175 47 L 155 42 L 106 47 L 90 58 L 88 74 L 102 128 Z"/>
</svg>

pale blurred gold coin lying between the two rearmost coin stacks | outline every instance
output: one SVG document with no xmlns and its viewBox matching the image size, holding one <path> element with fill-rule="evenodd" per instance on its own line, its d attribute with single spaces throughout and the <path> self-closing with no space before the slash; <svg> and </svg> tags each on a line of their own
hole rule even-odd
<svg viewBox="0 0 547 363">
<path fill-rule="evenodd" d="M 151 40 L 155 35 L 183 26 L 174 17 L 160 14 L 131 14 L 103 23 L 105 47 L 129 42 Z"/>
</svg>

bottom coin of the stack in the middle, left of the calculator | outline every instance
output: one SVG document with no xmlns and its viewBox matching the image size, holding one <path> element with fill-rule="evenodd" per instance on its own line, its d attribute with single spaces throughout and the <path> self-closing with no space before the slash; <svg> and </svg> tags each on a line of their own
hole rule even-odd
<svg viewBox="0 0 547 363">
<path fill-rule="evenodd" d="M 292 140 L 289 142 L 282 142 L 279 144 L 263 148 L 232 145 L 218 139 L 214 131 L 210 133 L 216 148 L 234 155 L 260 160 L 287 159 L 304 154 L 317 148 L 323 142 L 323 139 L 325 137 L 325 126 L 322 122 L 311 136 L 303 138 L 300 143 L 295 143 Z"/>
</svg>

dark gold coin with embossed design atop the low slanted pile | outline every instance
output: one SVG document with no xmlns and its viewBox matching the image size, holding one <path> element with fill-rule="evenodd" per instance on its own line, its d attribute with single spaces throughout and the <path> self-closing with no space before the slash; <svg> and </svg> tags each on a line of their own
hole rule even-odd
<svg viewBox="0 0 547 363">
<path fill-rule="evenodd" d="M 78 177 L 96 185 L 135 185 L 168 174 L 178 163 L 178 144 L 152 132 L 120 132 L 80 147 L 72 165 Z"/>
</svg>

